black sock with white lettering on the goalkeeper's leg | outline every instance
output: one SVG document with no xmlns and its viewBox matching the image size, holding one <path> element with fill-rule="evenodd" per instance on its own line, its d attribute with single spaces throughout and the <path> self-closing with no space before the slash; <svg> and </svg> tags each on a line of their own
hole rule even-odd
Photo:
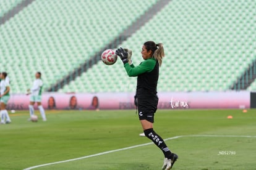
<svg viewBox="0 0 256 170">
<path fill-rule="evenodd" d="M 148 137 L 148 139 L 152 140 L 158 148 L 162 150 L 165 158 L 171 159 L 171 151 L 164 143 L 164 140 L 158 134 L 156 134 L 153 129 L 145 130 L 144 134 Z"/>
</svg>

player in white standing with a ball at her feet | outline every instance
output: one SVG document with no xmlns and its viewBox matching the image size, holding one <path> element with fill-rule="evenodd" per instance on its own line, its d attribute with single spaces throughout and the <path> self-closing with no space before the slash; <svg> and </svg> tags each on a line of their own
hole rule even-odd
<svg viewBox="0 0 256 170">
<path fill-rule="evenodd" d="M 41 116 L 43 118 L 43 121 L 46 121 L 45 116 L 45 110 L 43 109 L 43 106 L 41 105 L 41 99 L 42 99 L 42 89 L 43 89 L 43 81 L 41 80 L 41 73 L 37 72 L 35 74 L 35 81 L 33 83 L 33 86 L 31 89 L 28 89 L 27 92 L 30 95 L 30 103 L 28 105 L 30 117 L 34 115 L 34 104 L 37 103 L 38 109 L 41 113 Z"/>
</svg>

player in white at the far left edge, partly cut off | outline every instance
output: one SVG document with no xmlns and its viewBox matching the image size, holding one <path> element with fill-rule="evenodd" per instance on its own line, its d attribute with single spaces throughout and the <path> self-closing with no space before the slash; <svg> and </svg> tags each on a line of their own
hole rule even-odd
<svg viewBox="0 0 256 170">
<path fill-rule="evenodd" d="M 6 123 L 11 123 L 11 119 L 8 115 L 8 112 L 6 110 L 6 105 L 8 100 L 10 99 L 10 84 L 9 84 L 9 79 L 6 80 L 7 73 L 2 72 L 0 75 L 1 82 L 0 82 L 0 105 L 1 105 L 1 124 L 6 124 Z"/>
</svg>

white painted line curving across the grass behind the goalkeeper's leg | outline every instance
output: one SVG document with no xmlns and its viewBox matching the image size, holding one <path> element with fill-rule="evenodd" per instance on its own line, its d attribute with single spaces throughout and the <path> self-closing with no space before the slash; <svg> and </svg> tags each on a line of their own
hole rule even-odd
<svg viewBox="0 0 256 170">
<path fill-rule="evenodd" d="M 165 141 L 166 140 L 173 140 L 173 139 L 178 139 L 178 138 L 181 138 L 181 137 L 248 137 L 248 138 L 255 137 L 256 138 L 256 136 L 236 136 L 236 135 L 228 135 L 228 136 L 225 136 L 225 135 L 185 135 L 185 136 L 169 137 L 169 138 L 164 139 L 164 140 Z M 64 160 L 64 161 L 58 161 L 58 162 L 46 163 L 46 164 L 39 164 L 39 165 L 36 165 L 36 166 L 25 168 L 23 170 L 30 170 L 30 169 L 40 168 L 42 166 L 49 166 L 51 164 L 59 164 L 59 163 L 66 163 L 66 162 L 70 162 L 70 161 L 82 160 L 82 159 L 86 159 L 86 158 L 90 158 L 90 157 L 94 157 L 94 156 L 105 155 L 105 154 L 108 154 L 108 153 L 119 152 L 119 151 L 122 151 L 122 150 L 129 150 L 131 148 L 143 147 L 143 146 L 147 146 L 147 145 L 151 145 L 151 144 L 153 144 L 153 142 L 149 142 L 149 143 L 146 143 L 146 144 L 140 144 L 140 145 L 134 145 L 134 146 L 131 146 L 131 147 L 126 147 L 126 148 L 119 148 L 119 149 L 116 149 L 116 150 L 109 150 L 109 151 L 106 151 L 106 152 L 96 153 L 96 154 L 93 154 L 93 155 L 83 156 L 83 157 L 80 157 L 80 158 L 74 158 L 74 159 L 70 159 L 70 160 Z"/>
</svg>

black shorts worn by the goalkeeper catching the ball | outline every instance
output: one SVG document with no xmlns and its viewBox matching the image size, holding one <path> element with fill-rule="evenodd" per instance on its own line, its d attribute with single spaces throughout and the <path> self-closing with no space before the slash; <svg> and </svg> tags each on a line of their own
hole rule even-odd
<svg viewBox="0 0 256 170">
<path fill-rule="evenodd" d="M 138 112 L 140 120 L 147 120 L 154 123 L 154 115 L 157 110 L 158 99 L 142 100 L 138 99 Z"/>
</svg>

